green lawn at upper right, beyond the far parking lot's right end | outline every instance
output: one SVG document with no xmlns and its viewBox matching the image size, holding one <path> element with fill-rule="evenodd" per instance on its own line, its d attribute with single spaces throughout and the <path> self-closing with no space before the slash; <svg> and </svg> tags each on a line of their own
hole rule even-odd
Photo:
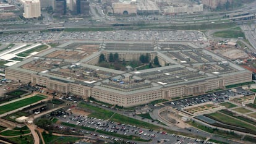
<svg viewBox="0 0 256 144">
<path fill-rule="evenodd" d="M 238 38 L 238 37 L 245 38 L 244 33 L 241 30 L 223 30 L 220 32 L 213 33 L 213 36 L 221 37 L 221 38 Z"/>
</svg>

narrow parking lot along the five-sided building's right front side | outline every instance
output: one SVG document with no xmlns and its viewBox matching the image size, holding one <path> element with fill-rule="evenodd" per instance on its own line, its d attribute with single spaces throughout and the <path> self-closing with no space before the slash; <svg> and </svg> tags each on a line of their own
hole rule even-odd
<svg viewBox="0 0 256 144">
<path fill-rule="evenodd" d="M 222 103 L 224 101 L 229 100 L 229 98 L 232 96 L 249 96 L 254 94 L 250 91 L 243 90 L 242 88 L 236 88 L 236 90 L 237 92 L 234 92 L 231 89 L 216 91 L 213 93 L 207 93 L 205 95 L 193 96 L 190 98 L 183 98 L 181 100 L 171 101 L 168 103 L 164 103 L 164 105 L 171 106 L 174 109 L 181 111 L 182 108 L 186 108 L 187 106 L 193 106 L 195 104 L 207 103 L 208 101 L 213 101 L 213 103 Z"/>
</svg>

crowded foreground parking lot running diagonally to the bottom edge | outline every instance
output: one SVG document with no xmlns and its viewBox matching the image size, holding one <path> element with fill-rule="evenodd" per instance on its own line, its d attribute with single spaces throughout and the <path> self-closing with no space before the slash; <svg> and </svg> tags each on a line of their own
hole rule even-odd
<svg viewBox="0 0 256 144">
<path fill-rule="evenodd" d="M 155 130 L 148 130 L 143 129 L 141 127 L 137 127 L 135 125 L 128 125 L 128 124 L 120 124 L 113 121 L 106 121 L 103 119 L 96 119 L 95 117 L 88 117 L 88 116 L 75 116 L 74 114 L 70 114 L 70 116 L 62 115 L 57 116 L 58 119 L 62 122 L 67 122 L 70 124 L 80 125 L 83 127 L 90 127 L 96 130 L 103 130 L 110 133 L 118 133 L 120 135 L 134 135 L 145 140 L 150 140 L 147 143 L 202 143 L 202 140 L 184 137 L 181 135 L 176 135 L 174 133 L 167 133 L 167 132 L 160 132 Z M 67 129 L 67 126 L 64 125 L 56 125 L 60 130 Z M 77 129 L 73 129 L 77 130 Z M 105 135 L 102 133 L 97 132 L 90 132 L 88 130 L 79 129 L 79 132 L 85 133 L 87 135 L 92 135 L 98 138 L 105 138 L 106 140 L 113 140 L 118 142 L 126 142 L 126 143 L 145 143 L 145 142 L 138 142 L 134 140 L 125 140 L 124 138 L 113 137 L 111 135 Z"/>
</svg>

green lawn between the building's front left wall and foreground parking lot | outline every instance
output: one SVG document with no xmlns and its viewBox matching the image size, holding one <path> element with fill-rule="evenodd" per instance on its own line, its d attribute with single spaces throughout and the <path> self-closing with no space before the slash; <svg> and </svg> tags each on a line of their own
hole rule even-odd
<svg viewBox="0 0 256 144">
<path fill-rule="evenodd" d="M 91 106 L 90 104 L 86 103 L 79 103 L 78 107 L 89 110 L 91 112 L 89 116 L 97 117 L 98 119 L 109 119 L 114 114 L 114 112 L 107 111 L 96 106 Z"/>
</svg>

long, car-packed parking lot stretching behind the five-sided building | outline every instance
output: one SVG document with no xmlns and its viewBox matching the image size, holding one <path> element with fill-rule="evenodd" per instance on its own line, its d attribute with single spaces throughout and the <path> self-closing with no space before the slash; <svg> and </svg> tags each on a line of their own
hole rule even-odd
<svg viewBox="0 0 256 144">
<path fill-rule="evenodd" d="M 40 42 L 56 40 L 163 40 L 163 41 L 197 41 L 202 40 L 203 33 L 198 31 L 105 31 L 105 32 L 43 32 L 14 33 L 0 35 L 0 42 Z"/>
</svg>

